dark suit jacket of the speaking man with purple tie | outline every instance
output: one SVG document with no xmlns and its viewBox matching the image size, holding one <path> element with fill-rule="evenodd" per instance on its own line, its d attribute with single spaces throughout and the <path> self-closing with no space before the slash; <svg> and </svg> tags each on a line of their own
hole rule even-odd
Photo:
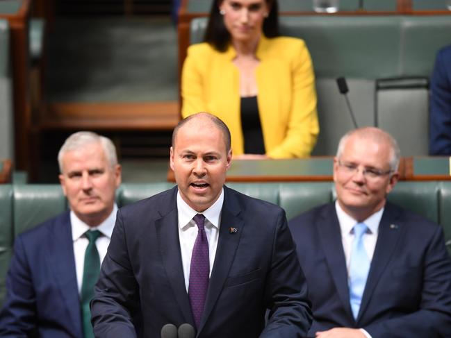
<svg viewBox="0 0 451 338">
<path fill-rule="evenodd" d="M 159 338 L 167 323 L 194 326 L 176 196 L 174 187 L 118 212 L 91 303 L 96 337 L 135 337 L 130 316 L 139 309 L 147 338 Z M 302 337 L 310 323 L 304 275 L 284 210 L 224 187 L 218 248 L 197 337 Z"/>
</svg>

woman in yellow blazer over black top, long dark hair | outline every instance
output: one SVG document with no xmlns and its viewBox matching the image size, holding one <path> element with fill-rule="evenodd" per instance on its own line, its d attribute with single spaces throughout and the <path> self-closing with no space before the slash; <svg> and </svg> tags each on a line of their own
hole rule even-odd
<svg viewBox="0 0 451 338">
<path fill-rule="evenodd" d="M 213 1 L 206 42 L 189 47 L 181 90 L 183 117 L 220 117 L 238 158 L 301 158 L 315 145 L 311 58 L 303 40 L 278 36 L 276 0 Z"/>
</svg>

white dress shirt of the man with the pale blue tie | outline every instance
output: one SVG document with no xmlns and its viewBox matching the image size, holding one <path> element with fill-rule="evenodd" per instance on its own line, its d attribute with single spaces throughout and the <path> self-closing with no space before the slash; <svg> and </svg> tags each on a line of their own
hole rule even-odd
<svg viewBox="0 0 451 338">
<path fill-rule="evenodd" d="M 343 251 L 345 251 L 346 258 L 346 269 L 347 269 L 347 278 L 349 284 L 349 272 L 350 272 L 350 264 L 351 264 L 351 248 L 352 242 L 354 241 L 354 226 L 358 223 L 355 219 L 350 217 L 340 206 L 338 201 L 335 201 L 335 210 L 338 217 L 338 223 L 340 223 L 341 229 L 341 242 L 343 243 Z M 361 223 L 365 223 L 368 226 L 368 230 L 365 234 L 363 234 L 363 246 L 365 247 L 366 253 L 370 262 L 372 260 L 372 256 L 375 253 L 377 235 L 379 233 L 379 223 L 382 219 L 382 214 L 384 213 L 384 208 L 372 214 L 368 219 L 365 219 Z M 363 328 L 360 329 L 361 332 L 367 337 L 372 338 L 371 335 L 366 332 Z"/>
</svg>

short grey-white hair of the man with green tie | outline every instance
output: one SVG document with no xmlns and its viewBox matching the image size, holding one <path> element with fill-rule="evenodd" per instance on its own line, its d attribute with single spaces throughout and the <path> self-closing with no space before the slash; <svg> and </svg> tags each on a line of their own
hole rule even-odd
<svg viewBox="0 0 451 338">
<path fill-rule="evenodd" d="M 113 142 L 105 136 L 98 135 L 92 131 L 79 131 L 67 137 L 63 146 L 58 152 L 58 165 L 60 173 L 63 174 L 63 156 L 68 151 L 74 151 L 84 148 L 90 144 L 98 143 L 104 149 L 106 160 L 110 167 L 113 168 L 117 164 L 116 147 Z"/>
</svg>

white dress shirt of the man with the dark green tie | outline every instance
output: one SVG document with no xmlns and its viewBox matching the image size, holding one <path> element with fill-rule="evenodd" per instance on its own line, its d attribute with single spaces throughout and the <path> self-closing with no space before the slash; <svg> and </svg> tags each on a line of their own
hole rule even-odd
<svg viewBox="0 0 451 338">
<path fill-rule="evenodd" d="M 85 267 L 85 251 L 88 247 L 89 240 L 83 234 L 88 230 L 99 230 L 101 236 L 95 242 L 97 251 L 99 251 L 100 263 L 103 262 L 106 255 L 106 250 L 110 244 L 111 234 L 116 221 L 117 205 L 114 205 L 113 212 L 100 223 L 99 226 L 90 227 L 85 222 L 81 221 L 79 217 L 71 210 L 70 223 L 72 226 L 72 240 L 74 241 L 74 257 L 75 257 L 75 271 L 76 283 L 81 292 L 81 284 L 83 282 L 83 269 Z"/>
</svg>

